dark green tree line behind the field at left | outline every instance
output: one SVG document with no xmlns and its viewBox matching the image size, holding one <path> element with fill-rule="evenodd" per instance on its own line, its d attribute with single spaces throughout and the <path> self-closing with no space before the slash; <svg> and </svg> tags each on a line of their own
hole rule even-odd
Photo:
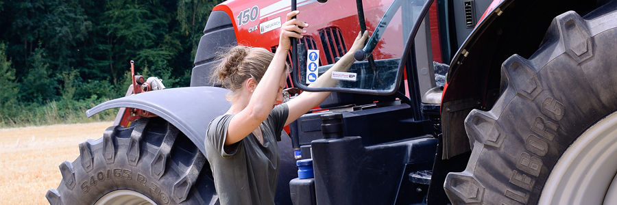
<svg viewBox="0 0 617 205">
<path fill-rule="evenodd" d="M 113 119 L 84 111 L 136 73 L 189 86 L 214 0 L 0 0 L 0 127 Z"/>
</svg>

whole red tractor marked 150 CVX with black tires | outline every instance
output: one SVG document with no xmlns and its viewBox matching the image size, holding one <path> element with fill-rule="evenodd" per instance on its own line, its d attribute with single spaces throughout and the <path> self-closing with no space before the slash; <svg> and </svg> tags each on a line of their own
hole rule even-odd
<svg viewBox="0 0 617 205">
<path fill-rule="evenodd" d="M 191 87 L 136 77 L 88 110 L 124 108 L 60 164 L 50 204 L 218 204 L 204 156 L 230 105 L 209 81 L 217 53 L 275 51 L 296 8 L 311 27 L 286 96 L 333 92 L 282 133 L 277 204 L 617 204 L 617 1 L 292 2 L 217 5 Z M 361 30 L 337 85 L 308 87 Z"/>
</svg>

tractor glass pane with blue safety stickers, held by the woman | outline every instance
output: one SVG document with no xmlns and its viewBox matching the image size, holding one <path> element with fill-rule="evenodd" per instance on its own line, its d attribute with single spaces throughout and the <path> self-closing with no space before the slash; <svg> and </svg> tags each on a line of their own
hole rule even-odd
<svg viewBox="0 0 617 205">
<path fill-rule="evenodd" d="M 363 1 L 363 12 L 365 16 L 365 25 L 370 33 L 370 39 L 367 40 L 367 45 L 363 49 L 363 57 L 356 59 L 356 62 L 349 70 L 326 72 L 330 69 L 334 61 L 318 62 L 315 57 L 319 55 L 332 55 L 330 51 L 335 51 L 336 44 L 328 44 L 322 38 L 322 46 L 324 51 L 310 50 L 300 52 L 300 68 L 298 72 L 298 82 L 303 90 L 312 91 L 339 91 L 339 92 L 356 92 L 356 93 L 371 93 L 371 94 L 391 94 L 398 88 L 398 79 L 400 79 L 400 61 L 404 49 L 407 45 L 409 33 L 415 27 L 415 21 L 422 13 L 427 0 L 420 1 L 405 1 L 405 0 L 368 0 Z M 332 5 L 341 1 L 331 1 Z M 317 15 L 311 17 L 314 22 L 330 22 L 331 25 L 348 25 L 341 29 L 338 37 L 345 40 L 347 47 L 353 43 L 355 36 L 360 31 L 361 20 L 358 18 L 358 10 L 356 9 L 355 1 L 350 3 L 340 3 L 338 7 L 332 8 L 332 13 L 328 15 Z M 328 4 L 330 1 L 324 3 Z M 352 6 L 350 6 L 352 5 Z M 328 6 L 324 8 L 330 8 Z M 332 21 L 332 15 L 341 15 L 337 17 L 339 20 Z M 351 25 L 354 25 L 353 27 Z M 336 42 L 336 39 L 332 42 Z M 332 46 L 332 49 L 327 49 Z M 343 44 L 344 46 L 344 44 Z M 340 51 L 341 49 L 339 49 Z M 346 52 L 346 49 L 343 49 Z M 334 53 L 337 54 L 337 53 Z M 341 55 L 339 56 L 342 56 Z M 305 56 L 300 56 L 305 55 Z M 304 60 L 304 61 L 303 61 Z M 335 58 L 336 60 L 336 58 Z M 322 65 L 322 66 L 319 66 Z M 323 74 L 330 75 L 326 78 L 329 83 L 317 83 L 317 79 Z M 324 78 L 321 78 L 324 79 Z M 312 85 L 310 88 L 304 89 L 304 86 Z M 304 86 L 302 86 L 304 85 Z"/>
</svg>

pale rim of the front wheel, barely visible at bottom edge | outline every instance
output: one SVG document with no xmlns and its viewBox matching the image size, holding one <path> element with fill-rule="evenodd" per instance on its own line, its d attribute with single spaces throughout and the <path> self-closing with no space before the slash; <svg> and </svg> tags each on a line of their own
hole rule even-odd
<svg viewBox="0 0 617 205">
<path fill-rule="evenodd" d="M 97 201 L 95 205 L 147 205 L 156 204 L 149 197 L 130 190 L 112 191 Z"/>
</svg>

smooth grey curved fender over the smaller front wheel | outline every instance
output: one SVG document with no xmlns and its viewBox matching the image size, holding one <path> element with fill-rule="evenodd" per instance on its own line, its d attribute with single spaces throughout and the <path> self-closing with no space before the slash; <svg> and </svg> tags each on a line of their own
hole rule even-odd
<svg viewBox="0 0 617 205">
<path fill-rule="evenodd" d="M 231 106 L 225 98 L 229 90 L 220 87 L 178 87 L 134 94 L 103 102 L 86 111 L 88 118 L 100 111 L 131 107 L 154 113 L 176 126 L 206 154 L 204 138 L 210 120 Z"/>
</svg>

